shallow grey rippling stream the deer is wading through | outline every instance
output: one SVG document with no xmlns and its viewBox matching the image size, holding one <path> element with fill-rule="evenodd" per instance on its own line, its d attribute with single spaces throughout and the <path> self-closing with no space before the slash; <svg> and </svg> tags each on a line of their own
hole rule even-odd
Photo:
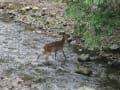
<svg viewBox="0 0 120 90">
<path fill-rule="evenodd" d="M 60 39 L 26 30 L 19 23 L 0 21 L 0 87 L 9 90 L 78 90 L 88 86 L 96 90 L 120 90 L 120 71 L 102 61 L 78 62 L 77 53 L 67 43 L 64 47 L 66 62 L 61 52 L 57 54 L 57 60 L 54 53 L 47 63 L 43 56 L 36 60 L 46 43 Z M 92 75 L 75 73 L 79 65 L 90 68 Z M 13 86 L 12 80 L 16 78 L 21 78 L 24 83 Z"/>
</svg>

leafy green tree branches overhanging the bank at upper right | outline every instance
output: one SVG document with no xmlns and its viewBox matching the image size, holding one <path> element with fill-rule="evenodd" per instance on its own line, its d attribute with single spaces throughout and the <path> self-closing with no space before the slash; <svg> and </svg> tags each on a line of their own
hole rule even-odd
<svg viewBox="0 0 120 90">
<path fill-rule="evenodd" d="M 64 0 L 65 16 L 75 19 L 75 34 L 83 32 L 85 47 L 96 47 L 101 34 L 120 24 L 120 0 Z"/>
</svg>

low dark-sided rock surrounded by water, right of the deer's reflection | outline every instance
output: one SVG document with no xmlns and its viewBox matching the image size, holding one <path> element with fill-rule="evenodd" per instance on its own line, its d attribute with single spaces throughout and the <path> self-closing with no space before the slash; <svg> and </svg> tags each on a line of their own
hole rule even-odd
<svg viewBox="0 0 120 90">
<path fill-rule="evenodd" d="M 75 73 L 90 76 L 92 74 L 92 71 L 90 69 L 88 69 L 87 67 L 81 66 L 81 67 L 79 67 L 78 70 L 75 71 Z"/>
</svg>

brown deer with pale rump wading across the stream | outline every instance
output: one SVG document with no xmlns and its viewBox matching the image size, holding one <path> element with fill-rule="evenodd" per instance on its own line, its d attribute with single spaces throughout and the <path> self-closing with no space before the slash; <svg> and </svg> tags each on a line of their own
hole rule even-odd
<svg viewBox="0 0 120 90">
<path fill-rule="evenodd" d="M 66 60 L 66 55 L 64 53 L 63 48 L 64 48 L 65 40 L 67 40 L 70 37 L 70 35 L 65 33 L 62 33 L 62 35 L 63 38 L 61 40 L 48 43 L 41 49 L 42 53 L 45 55 L 46 60 L 48 60 L 48 57 L 52 52 L 55 52 L 55 60 L 56 60 L 57 51 L 62 51 Z M 37 60 L 39 59 L 40 55 L 38 55 Z"/>
</svg>

